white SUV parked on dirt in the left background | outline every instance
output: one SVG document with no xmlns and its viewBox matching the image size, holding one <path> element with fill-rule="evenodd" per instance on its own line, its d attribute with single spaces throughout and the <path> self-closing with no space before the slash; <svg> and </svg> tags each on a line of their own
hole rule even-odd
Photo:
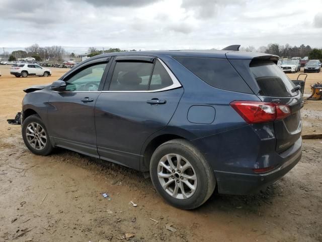
<svg viewBox="0 0 322 242">
<path fill-rule="evenodd" d="M 27 76 L 51 76 L 51 70 L 43 68 L 37 64 L 14 64 L 10 68 L 10 74 L 16 77 Z"/>
</svg>

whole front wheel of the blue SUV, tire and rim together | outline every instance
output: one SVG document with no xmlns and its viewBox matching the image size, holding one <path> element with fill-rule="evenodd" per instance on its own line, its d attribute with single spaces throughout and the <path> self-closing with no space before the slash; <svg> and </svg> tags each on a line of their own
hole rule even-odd
<svg viewBox="0 0 322 242">
<path fill-rule="evenodd" d="M 34 138 L 32 142 L 32 138 L 35 137 L 33 132 L 37 127 L 39 127 L 36 133 L 38 139 Z M 22 138 L 27 148 L 36 155 L 49 155 L 53 150 L 46 127 L 37 114 L 30 115 L 23 121 Z"/>
</svg>

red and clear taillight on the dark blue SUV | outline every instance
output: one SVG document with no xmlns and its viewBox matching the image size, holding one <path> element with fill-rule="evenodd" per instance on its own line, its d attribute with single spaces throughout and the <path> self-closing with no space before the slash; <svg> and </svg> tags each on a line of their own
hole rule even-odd
<svg viewBox="0 0 322 242">
<path fill-rule="evenodd" d="M 233 101 L 230 106 L 248 124 L 273 122 L 291 114 L 291 109 L 288 105 L 274 102 Z"/>
</svg>

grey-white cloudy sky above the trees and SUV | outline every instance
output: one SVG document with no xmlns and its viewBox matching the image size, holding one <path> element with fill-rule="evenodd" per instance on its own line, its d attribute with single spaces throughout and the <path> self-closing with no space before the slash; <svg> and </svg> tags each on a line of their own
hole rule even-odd
<svg viewBox="0 0 322 242">
<path fill-rule="evenodd" d="M 1 0 L 0 23 L 9 49 L 322 47 L 322 0 Z"/>
</svg>

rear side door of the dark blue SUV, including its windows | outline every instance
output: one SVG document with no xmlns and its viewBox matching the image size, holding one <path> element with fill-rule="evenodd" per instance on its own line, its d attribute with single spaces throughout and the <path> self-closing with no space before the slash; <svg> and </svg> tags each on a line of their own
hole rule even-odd
<svg viewBox="0 0 322 242">
<path fill-rule="evenodd" d="M 100 158 L 139 169 L 142 144 L 167 126 L 183 92 L 160 59 L 117 56 L 95 105 Z"/>
</svg>

